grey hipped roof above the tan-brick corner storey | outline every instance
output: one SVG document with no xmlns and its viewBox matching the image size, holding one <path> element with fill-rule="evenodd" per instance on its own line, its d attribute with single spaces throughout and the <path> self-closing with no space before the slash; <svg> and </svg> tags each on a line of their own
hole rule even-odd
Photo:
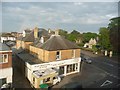
<svg viewBox="0 0 120 90">
<path fill-rule="evenodd" d="M 79 46 L 58 35 L 51 36 L 50 39 L 48 39 L 44 44 L 42 44 L 40 48 L 48 51 L 56 51 L 66 49 L 79 49 Z"/>
</svg>

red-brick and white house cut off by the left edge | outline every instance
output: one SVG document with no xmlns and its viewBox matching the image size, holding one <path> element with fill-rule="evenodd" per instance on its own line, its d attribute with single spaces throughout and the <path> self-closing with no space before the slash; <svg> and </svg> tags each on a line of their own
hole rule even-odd
<svg viewBox="0 0 120 90">
<path fill-rule="evenodd" d="M 12 83 L 12 50 L 0 43 L 0 87 L 6 83 Z"/>
</svg>

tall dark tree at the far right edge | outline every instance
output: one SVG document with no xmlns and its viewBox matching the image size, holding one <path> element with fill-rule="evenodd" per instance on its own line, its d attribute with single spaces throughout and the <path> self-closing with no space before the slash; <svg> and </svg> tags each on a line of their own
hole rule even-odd
<svg viewBox="0 0 120 90">
<path fill-rule="evenodd" d="M 108 29 L 113 50 L 120 53 L 120 17 L 110 19 Z"/>
</svg>

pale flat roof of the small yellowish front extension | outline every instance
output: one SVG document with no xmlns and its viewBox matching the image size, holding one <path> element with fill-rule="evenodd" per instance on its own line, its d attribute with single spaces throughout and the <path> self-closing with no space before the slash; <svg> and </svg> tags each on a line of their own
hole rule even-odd
<svg viewBox="0 0 120 90">
<path fill-rule="evenodd" d="M 57 73 L 54 69 L 44 69 L 44 70 L 36 70 L 33 72 L 33 75 L 35 75 L 37 78 L 44 77 L 53 73 Z"/>
</svg>

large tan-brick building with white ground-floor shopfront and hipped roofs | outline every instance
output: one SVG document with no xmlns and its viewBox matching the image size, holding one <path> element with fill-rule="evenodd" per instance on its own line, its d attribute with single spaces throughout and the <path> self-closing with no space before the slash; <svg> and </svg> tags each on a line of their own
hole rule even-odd
<svg viewBox="0 0 120 90">
<path fill-rule="evenodd" d="M 24 65 L 22 71 L 35 88 L 53 83 L 56 75 L 66 76 L 80 70 L 80 48 L 58 33 L 35 28 L 17 40 L 19 63 Z"/>
</svg>

